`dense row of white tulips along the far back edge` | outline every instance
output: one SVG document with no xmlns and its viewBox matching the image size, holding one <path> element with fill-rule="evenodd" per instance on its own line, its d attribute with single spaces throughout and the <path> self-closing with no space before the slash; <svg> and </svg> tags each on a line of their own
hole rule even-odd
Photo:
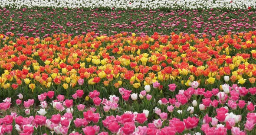
<svg viewBox="0 0 256 135">
<path fill-rule="evenodd" d="M 118 9 L 255 9 L 256 0 L 0 0 L 0 7 L 118 8 Z"/>
</svg>

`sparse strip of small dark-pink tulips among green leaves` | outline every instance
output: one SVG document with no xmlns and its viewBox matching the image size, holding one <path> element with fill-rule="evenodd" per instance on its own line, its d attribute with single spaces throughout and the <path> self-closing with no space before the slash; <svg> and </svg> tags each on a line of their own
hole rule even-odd
<svg viewBox="0 0 256 135">
<path fill-rule="evenodd" d="M 121 32 L 136 33 L 140 36 L 170 35 L 184 32 L 202 37 L 203 34 L 217 37 L 228 32 L 256 29 L 256 13 L 252 10 L 82 10 L 49 8 L 3 9 L 0 10 L 0 33 L 17 38 L 52 37 L 53 34 L 85 35 L 95 31 L 95 35 L 115 35 Z"/>
</svg>

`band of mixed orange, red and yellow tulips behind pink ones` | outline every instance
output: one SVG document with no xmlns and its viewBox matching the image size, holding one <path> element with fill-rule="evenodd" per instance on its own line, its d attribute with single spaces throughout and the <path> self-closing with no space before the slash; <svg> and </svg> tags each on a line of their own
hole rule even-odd
<svg viewBox="0 0 256 135">
<path fill-rule="evenodd" d="M 0 87 L 9 91 L 0 97 L 48 89 L 69 97 L 72 89 L 88 85 L 117 94 L 108 89 L 141 90 L 154 82 L 162 83 L 160 90 L 174 82 L 185 89 L 193 81 L 204 88 L 224 82 L 255 86 L 255 34 L 230 33 L 218 40 L 182 33 L 136 37 L 124 32 L 107 37 L 91 32 L 73 39 L 62 34 L 42 40 L 0 35 Z"/>
</svg>

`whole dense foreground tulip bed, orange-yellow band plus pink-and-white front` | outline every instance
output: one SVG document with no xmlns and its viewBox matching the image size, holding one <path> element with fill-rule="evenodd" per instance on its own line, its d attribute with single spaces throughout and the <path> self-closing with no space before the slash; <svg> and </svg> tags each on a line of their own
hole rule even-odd
<svg viewBox="0 0 256 135">
<path fill-rule="evenodd" d="M 0 134 L 253 135 L 255 35 L 0 34 Z"/>
</svg>

